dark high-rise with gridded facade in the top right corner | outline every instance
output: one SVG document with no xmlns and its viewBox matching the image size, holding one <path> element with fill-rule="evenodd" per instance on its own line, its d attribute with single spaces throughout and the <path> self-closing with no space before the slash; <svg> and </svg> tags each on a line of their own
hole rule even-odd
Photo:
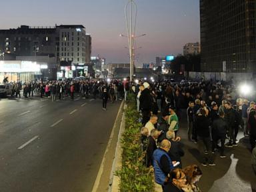
<svg viewBox="0 0 256 192">
<path fill-rule="evenodd" d="M 201 70 L 256 71 L 256 1 L 200 0 Z"/>
</svg>

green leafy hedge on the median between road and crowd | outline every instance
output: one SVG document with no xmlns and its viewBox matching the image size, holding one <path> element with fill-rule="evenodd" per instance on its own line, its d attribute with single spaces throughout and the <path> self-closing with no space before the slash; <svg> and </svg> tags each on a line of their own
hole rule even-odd
<svg viewBox="0 0 256 192">
<path fill-rule="evenodd" d="M 149 192 L 154 191 L 153 173 L 143 165 L 145 154 L 141 151 L 139 113 L 136 111 L 135 97 L 129 95 L 125 109 L 125 132 L 121 143 L 123 149 L 123 162 L 121 170 L 115 174 L 121 182 L 121 192 Z"/>
</svg>

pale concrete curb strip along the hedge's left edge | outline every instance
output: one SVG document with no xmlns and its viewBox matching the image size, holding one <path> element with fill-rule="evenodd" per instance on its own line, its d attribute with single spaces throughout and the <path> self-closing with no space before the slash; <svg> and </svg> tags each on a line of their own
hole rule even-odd
<svg viewBox="0 0 256 192">
<path fill-rule="evenodd" d="M 123 109 L 126 109 L 127 105 L 123 106 Z M 120 179 L 117 175 L 114 175 L 115 171 L 122 167 L 122 147 L 121 147 L 121 137 L 123 132 L 125 131 L 125 113 L 123 112 L 121 125 L 118 134 L 117 147 L 115 149 L 115 158 L 113 160 L 111 175 L 109 177 L 109 192 L 118 192 L 119 191 L 119 183 Z"/>
</svg>

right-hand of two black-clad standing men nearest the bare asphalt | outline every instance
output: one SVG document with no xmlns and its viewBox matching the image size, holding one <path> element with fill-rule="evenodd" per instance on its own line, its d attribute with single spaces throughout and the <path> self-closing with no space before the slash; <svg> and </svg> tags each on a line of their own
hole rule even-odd
<svg viewBox="0 0 256 192">
<path fill-rule="evenodd" d="M 219 118 L 213 121 L 212 131 L 213 131 L 213 151 L 217 148 L 217 141 L 221 139 L 221 158 L 225 158 L 224 155 L 224 144 L 225 135 L 227 133 L 227 123 L 224 120 L 224 113 L 221 111 L 219 113 Z"/>
</svg>

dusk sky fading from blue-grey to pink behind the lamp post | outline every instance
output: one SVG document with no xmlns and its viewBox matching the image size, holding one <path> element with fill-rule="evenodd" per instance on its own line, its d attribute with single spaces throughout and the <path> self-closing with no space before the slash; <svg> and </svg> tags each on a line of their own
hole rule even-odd
<svg viewBox="0 0 256 192">
<path fill-rule="evenodd" d="M 92 37 L 92 56 L 107 63 L 129 62 L 125 0 L 12 0 L 1 2 L 1 29 L 20 25 L 81 24 Z M 200 41 L 199 0 L 137 0 L 136 63 L 183 53 L 185 43 Z"/>
</svg>

